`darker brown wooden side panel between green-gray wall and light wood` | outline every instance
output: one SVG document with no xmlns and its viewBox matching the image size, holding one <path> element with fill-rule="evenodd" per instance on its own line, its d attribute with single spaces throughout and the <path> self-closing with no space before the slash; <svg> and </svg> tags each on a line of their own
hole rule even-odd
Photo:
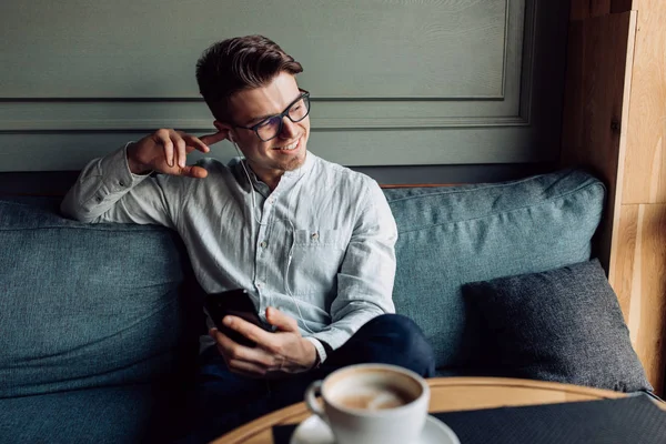
<svg viewBox="0 0 666 444">
<path fill-rule="evenodd" d="M 616 183 L 624 150 L 622 122 L 628 117 L 628 93 L 636 16 L 633 12 L 574 21 L 569 27 L 563 165 L 586 165 L 608 188 L 606 216 L 595 252 L 613 274 L 610 250 Z"/>
</svg>

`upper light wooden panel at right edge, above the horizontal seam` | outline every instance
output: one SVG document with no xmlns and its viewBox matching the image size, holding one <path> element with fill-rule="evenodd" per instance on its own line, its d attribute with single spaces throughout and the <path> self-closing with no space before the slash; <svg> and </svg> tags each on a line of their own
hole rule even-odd
<svg viewBox="0 0 666 444">
<path fill-rule="evenodd" d="M 666 202 L 666 1 L 639 0 L 624 203 Z"/>
</svg>

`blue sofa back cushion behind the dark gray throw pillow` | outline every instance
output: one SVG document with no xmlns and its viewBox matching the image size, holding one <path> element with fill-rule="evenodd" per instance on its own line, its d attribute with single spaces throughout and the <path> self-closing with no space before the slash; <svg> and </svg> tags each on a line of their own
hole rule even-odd
<svg viewBox="0 0 666 444">
<path fill-rule="evenodd" d="M 462 284 L 589 260 L 605 188 L 586 172 L 565 170 L 384 193 L 398 229 L 396 311 L 422 327 L 438 367 L 466 367 L 483 351 Z"/>
</svg>

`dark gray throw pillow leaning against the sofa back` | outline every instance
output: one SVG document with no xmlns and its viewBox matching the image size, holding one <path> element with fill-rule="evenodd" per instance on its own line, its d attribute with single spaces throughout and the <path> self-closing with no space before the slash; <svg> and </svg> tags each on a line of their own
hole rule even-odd
<svg viewBox="0 0 666 444">
<path fill-rule="evenodd" d="M 483 365 L 500 376 L 652 391 L 597 260 L 463 285 L 485 325 Z"/>
</svg>

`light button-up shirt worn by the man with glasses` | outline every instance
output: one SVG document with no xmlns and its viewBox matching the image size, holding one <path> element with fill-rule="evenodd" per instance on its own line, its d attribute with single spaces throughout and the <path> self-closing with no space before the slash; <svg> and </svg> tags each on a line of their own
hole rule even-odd
<svg viewBox="0 0 666 444">
<path fill-rule="evenodd" d="M 397 230 L 374 180 L 310 152 L 272 192 L 241 163 L 200 164 L 205 179 L 135 175 L 122 148 L 83 169 L 62 211 L 176 230 L 205 292 L 250 290 L 264 321 L 268 306 L 294 317 L 321 360 L 320 341 L 335 350 L 394 312 Z M 202 347 L 212 343 L 202 336 Z"/>
</svg>

